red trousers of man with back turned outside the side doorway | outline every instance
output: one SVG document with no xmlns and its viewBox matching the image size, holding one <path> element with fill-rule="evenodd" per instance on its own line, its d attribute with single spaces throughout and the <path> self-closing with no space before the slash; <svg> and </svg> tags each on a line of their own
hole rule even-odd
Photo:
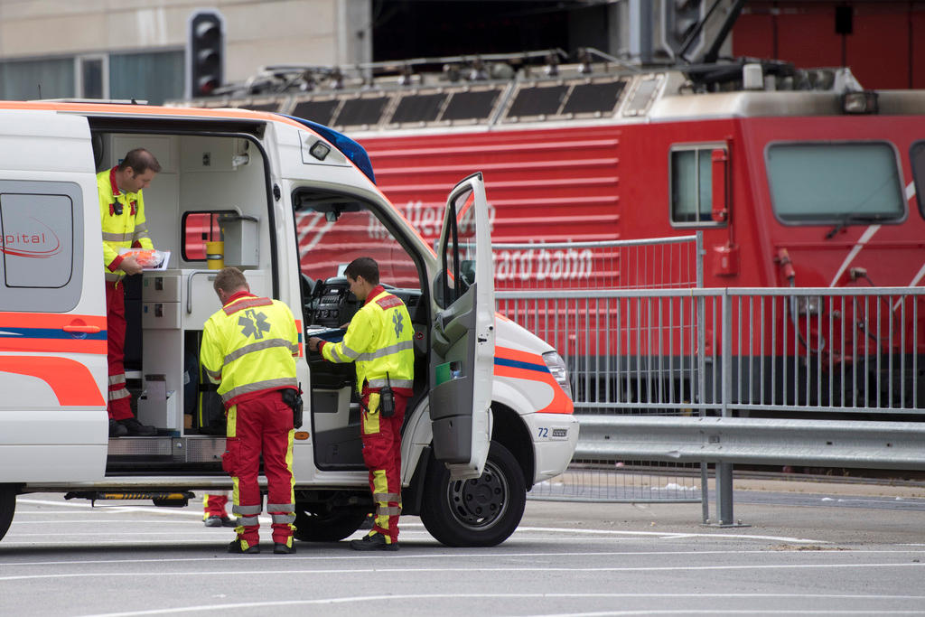
<svg viewBox="0 0 925 617">
<path fill-rule="evenodd" d="M 292 480 L 292 409 L 279 390 L 241 401 L 228 408 L 228 439 L 222 466 L 231 475 L 234 505 L 240 517 L 238 537 L 255 546 L 260 541 L 257 515 L 263 498 L 257 475 L 264 455 L 266 512 L 272 519 L 273 541 L 291 546 L 295 521 L 295 493 Z"/>
</svg>

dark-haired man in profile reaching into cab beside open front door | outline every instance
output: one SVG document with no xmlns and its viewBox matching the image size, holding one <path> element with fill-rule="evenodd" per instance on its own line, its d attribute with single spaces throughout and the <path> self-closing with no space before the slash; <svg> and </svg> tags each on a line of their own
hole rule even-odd
<svg viewBox="0 0 925 617">
<path fill-rule="evenodd" d="M 398 550 L 401 423 L 414 385 L 411 315 L 400 298 L 379 285 L 379 266 L 370 257 L 354 259 L 344 275 L 363 307 L 353 315 L 342 341 L 326 343 L 312 337 L 308 344 L 328 362 L 356 364 L 356 388 L 363 400 L 363 459 L 376 501 L 376 521 L 367 536 L 351 541 L 351 549 Z M 387 385 L 394 397 L 390 417 L 382 413 L 380 397 Z"/>
</svg>

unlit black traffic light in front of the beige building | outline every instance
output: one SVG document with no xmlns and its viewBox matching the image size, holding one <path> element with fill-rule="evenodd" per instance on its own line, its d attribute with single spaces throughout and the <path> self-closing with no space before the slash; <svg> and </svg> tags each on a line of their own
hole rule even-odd
<svg viewBox="0 0 925 617">
<path fill-rule="evenodd" d="M 187 98 L 208 96 L 225 80 L 225 19 L 215 10 L 197 11 L 189 26 Z"/>
</svg>

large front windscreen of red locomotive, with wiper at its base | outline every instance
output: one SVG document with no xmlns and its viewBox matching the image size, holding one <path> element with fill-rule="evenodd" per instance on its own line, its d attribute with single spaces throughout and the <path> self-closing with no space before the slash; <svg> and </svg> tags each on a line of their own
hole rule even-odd
<svg viewBox="0 0 925 617">
<path fill-rule="evenodd" d="M 771 143 L 765 158 L 774 214 L 785 223 L 878 222 L 906 214 L 887 142 Z"/>
</svg>

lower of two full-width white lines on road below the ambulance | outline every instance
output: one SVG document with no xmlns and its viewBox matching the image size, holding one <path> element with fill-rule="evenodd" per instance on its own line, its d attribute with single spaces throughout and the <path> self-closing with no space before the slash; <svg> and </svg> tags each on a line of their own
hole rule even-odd
<svg viewBox="0 0 925 617">
<path fill-rule="evenodd" d="M 259 558 L 257 558 L 259 559 Z M 755 565 L 682 565 L 682 566 L 610 566 L 600 568 L 575 568 L 564 567 L 522 567 L 516 566 L 511 568 L 485 568 L 474 566 L 471 568 L 333 568 L 330 570 L 266 570 L 263 568 L 256 570 L 239 570 L 239 571 L 216 571 L 216 572 L 95 572 L 95 573 L 62 573 L 62 574 L 13 574 L 9 576 L 0 576 L 0 582 L 4 581 L 25 581 L 40 580 L 48 578 L 93 578 L 107 576 L 254 576 L 256 574 L 415 574 L 415 573 L 510 573 L 520 574 L 527 572 L 709 572 L 709 571 L 742 571 L 742 570 L 832 570 L 832 569 L 858 569 L 858 568 L 925 568 L 925 563 L 767 563 Z"/>
</svg>

